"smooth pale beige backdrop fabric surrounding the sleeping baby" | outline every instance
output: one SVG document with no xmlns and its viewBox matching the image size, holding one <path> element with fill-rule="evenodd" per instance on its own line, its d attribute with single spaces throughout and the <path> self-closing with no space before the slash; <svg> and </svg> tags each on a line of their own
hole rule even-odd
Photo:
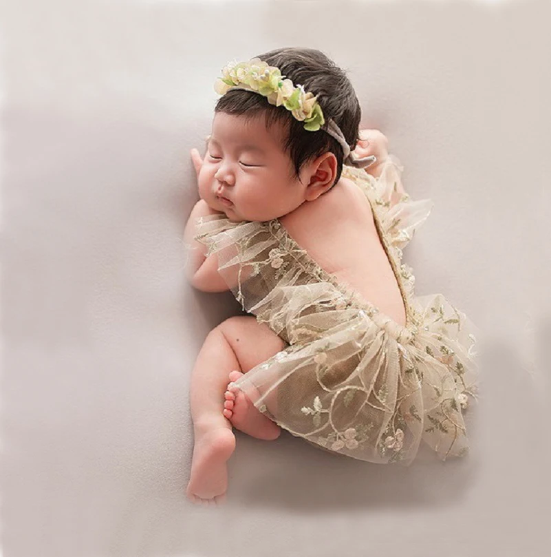
<svg viewBox="0 0 551 557">
<path fill-rule="evenodd" d="M 3 551 L 9 557 L 545 554 L 549 5 L 12 1 L 3 7 Z M 228 503 L 184 490 L 188 383 L 230 293 L 182 236 L 233 58 L 319 48 L 431 198 L 404 251 L 486 333 L 468 459 L 334 459 L 237 433 Z"/>
</svg>

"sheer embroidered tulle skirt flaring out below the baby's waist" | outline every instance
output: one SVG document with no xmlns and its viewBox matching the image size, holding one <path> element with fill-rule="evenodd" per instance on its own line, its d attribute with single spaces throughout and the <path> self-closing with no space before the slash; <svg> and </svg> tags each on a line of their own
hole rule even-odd
<svg viewBox="0 0 551 557">
<path fill-rule="evenodd" d="M 442 460 L 463 456 L 463 412 L 477 392 L 475 326 L 442 295 L 416 304 L 424 324 L 400 341 L 393 323 L 368 309 L 291 317 L 291 338 L 326 328 L 235 385 L 282 428 L 336 454 L 409 465 L 424 442 Z"/>
</svg>

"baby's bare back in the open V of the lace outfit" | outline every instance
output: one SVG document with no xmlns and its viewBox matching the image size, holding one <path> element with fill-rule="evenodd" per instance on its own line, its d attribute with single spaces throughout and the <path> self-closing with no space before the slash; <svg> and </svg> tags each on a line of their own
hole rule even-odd
<svg viewBox="0 0 551 557">
<path fill-rule="evenodd" d="M 371 206 L 352 180 L 341 178 L 323 196 L 279 220 L 322 269 L 405 325 L 404 302 Z"/>
</svg>

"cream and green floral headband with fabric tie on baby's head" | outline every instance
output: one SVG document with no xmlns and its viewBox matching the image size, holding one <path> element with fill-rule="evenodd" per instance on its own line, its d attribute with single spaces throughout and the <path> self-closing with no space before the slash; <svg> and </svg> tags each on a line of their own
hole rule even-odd
<svg viewBox="0 0 551 557">
<path fill-rule="evenodd" d="M 365 168 L 376 162 L 375 156 L 359 158 L 350 151 L 343 132 L 334 120 L 329 118 L 327 124 L 323 111 L 316 96 L 305 92 L 302 85 L 295 85 L 290 79 L 284 79 L 278 67 L 270 66 L 259 58 L 248 62 L 229 62 L 222 68 L 222 77 L 215 82 L 215 91 L 224 95 L 233 89 L 252 91 L 268 99 L 270 105 L 283 106 L 288 109 L 296 120 L 304 122 L 304 129 L 317 132 L 323 129 L 334 137 L 343 147 L 344 163 Z"/>
</svg>

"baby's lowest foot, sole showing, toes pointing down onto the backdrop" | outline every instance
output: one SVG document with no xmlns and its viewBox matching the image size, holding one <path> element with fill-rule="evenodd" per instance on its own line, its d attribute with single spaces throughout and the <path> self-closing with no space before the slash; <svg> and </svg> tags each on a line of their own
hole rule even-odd
<svg viewBox="0 0 551 557">
<path fill-rule="evenodd" d="M 226 501 L 226 461 L 234 450 L 235 435 L 230 428 L 195 432 L 191 477 L 186 490 L 190 501 L 202 505 L 219 505 Z"/>
</svg>

